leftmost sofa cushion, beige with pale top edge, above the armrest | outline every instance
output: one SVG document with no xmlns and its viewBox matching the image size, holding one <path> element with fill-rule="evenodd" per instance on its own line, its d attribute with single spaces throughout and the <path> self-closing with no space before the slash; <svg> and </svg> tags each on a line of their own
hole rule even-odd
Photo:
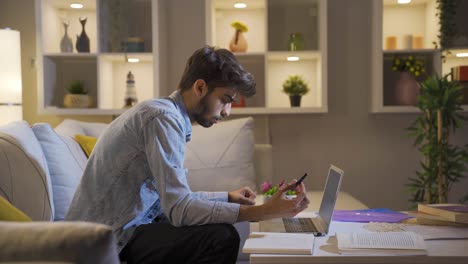
<svg viewBox="0 0 468 264">
<path fill-rule="evenodd" d="M 24 121 L 0 127 L 0 191 L 31 219 L 53 219 L 47 161 L 34 132 Z"/>
</svg>

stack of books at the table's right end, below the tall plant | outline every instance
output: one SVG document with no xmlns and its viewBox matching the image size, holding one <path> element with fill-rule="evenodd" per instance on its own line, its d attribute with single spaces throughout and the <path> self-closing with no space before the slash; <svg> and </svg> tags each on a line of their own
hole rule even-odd
<svg viewBox="0 0 468 264">
<path fill-rule="evenodd" d="M 468 205 L 418 204 L 417 212 L 408 213 L 422 225 L 448 225 L 468 227 Z"/>
</svg>

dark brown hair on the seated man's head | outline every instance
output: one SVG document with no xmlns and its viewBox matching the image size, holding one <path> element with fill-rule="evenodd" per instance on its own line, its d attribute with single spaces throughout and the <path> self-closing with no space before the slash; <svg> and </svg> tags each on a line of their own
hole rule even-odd
<svg viewBox="0 0 468 264">
<path fill-rule="evenodd" d="M 232 87 L 245 97 L 255 94 L 253 75 L 245 71 L 227 49 L 205 46 L 193 53 L 185 66 L 179 89 L 190 89 L 198 79 L 206 82 L 209 91 L 216 87 Z"/>
</svg>

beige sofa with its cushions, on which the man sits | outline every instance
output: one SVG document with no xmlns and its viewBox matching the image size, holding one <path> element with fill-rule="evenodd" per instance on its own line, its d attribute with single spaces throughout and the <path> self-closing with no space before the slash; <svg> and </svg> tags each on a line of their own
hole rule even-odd
<svg viewBox="0 0 468 264">
<path fill-rule="evenodd" d="M 193 127 L 185 163 L 193 191 L 257 189 L 271 180 L 272 148 L 254 144 L 253 126 L 252 118 L 241 118 Z M 33 220 L 0 222 L 0 261 L 119 262 L 108 226 L 62 221 L 87 162 L 75 136 L 99 138 L 106 127 L 71 119 L 55 129 L 25 121 L 0 127 L 0 195 Z M 249 225 L 235 227 L 242 248 Z M 239 253 L 238 260 L 248 257 Z"/>
</svg>

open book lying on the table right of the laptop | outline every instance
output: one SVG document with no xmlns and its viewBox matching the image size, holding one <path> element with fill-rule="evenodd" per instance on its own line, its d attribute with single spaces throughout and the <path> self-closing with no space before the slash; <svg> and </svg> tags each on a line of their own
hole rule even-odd
<svg viewBox="0 0 468 264">
<path fill-rule="evenodd" d="M 414 232 L 336 233 L 343 255 L 427 255 L 424 238 Z"/>
</svg>

